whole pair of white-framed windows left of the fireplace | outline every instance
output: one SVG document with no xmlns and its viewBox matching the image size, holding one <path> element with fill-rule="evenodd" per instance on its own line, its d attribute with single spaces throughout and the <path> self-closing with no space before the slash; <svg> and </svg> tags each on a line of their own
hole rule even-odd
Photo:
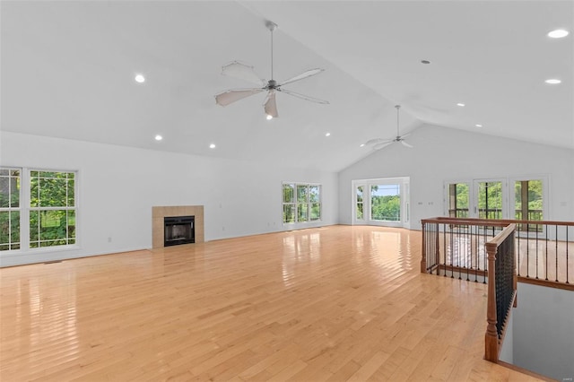
<svg viewBox="0 0 574 382">
<path fill-rule="evenodd" d="M 76 173 L 0 168 L 0 250 L 76 243 Z"/>
</svg>

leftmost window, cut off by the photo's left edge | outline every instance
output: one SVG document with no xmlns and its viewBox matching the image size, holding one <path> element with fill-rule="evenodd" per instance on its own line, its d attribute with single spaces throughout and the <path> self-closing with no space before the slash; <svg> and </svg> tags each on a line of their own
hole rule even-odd
<svg viewBox="0 0 574 382">
<path fill-rule="evenodd" d="M 20 249 L 20 169 L 0 169 L 0 251 Z"/>
</svg>

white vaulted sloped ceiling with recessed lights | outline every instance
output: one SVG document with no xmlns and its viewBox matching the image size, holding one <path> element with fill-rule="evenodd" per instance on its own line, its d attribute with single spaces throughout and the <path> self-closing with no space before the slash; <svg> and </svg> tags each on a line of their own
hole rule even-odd
<svg viewBox="0 0 574 382">
<path fill-rule="evenodd" d="M 401 104 L 401 133 L 432 124 L 574 149 L 570 1 L 0 6 L 4 131 L 337 171 L 370 154 L 361 143 L 396 135 Z M 329 105 L 279 94 L 272 121 L 263 93 L 215 105 L 214 94 L 251 86 L 222 65 L 269 78 L 266 20 L 279 25 L 275 79 L 325 68 L 289 89 Z M 546 36 L 557 28 L 570 36 Z"/>
</svg>

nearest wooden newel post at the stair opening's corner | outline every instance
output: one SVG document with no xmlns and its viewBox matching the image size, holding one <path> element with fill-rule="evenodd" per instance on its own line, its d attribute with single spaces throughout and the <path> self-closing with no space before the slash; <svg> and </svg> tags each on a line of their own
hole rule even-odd
<svg viewBox="0 0 574 382">
<path fill-rule="evenodd" d="M 497 245 L 486 243 L 488 253 L 488 306 L 486 308 L 486 334 L 484 334 L 484 359 L 497 362 L 499 359 L 499 334 L 496 330 L 496 276 L 495 262 Z"/>
</svg>

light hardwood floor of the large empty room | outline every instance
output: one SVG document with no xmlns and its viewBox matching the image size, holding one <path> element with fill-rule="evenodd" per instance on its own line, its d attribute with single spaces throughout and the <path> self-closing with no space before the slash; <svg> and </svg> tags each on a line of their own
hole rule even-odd
<svg viewBox="0 0 574 382">
<path fill-rule="evenodd" d="M 0 270 L 0 380 L 536 380 L 421 232 L 333 226 Z"/>
</svg>

